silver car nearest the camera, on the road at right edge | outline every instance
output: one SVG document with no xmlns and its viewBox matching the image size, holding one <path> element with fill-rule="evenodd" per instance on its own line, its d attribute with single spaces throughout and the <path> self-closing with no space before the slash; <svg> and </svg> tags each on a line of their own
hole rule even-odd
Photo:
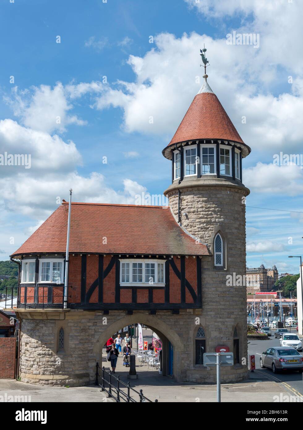
<svg viewBox="0 0 303 430">
<path fill-rule="evenodd" d="M 262 353 L 260 368 L 268 367 L 273 373 L 281 370 L 303 370 L 303 356 L 294 348 L 273 347 Z"/>
</svg>

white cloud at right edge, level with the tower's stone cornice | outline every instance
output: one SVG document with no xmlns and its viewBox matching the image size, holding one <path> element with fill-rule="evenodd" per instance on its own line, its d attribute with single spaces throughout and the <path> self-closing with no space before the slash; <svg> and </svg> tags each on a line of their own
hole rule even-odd
<svg viewBox="0 0 303 430">
<path fill-rule="evenodd" d="M 303 193 L 303 169 L 257 163 L 243 170 L 243 182 L 258 193 L 297 196 Z"/>
</svg>

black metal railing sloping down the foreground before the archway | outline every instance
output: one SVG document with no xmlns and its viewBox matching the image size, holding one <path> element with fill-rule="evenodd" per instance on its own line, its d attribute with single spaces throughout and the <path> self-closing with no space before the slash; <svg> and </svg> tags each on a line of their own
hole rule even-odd
<svg viewBox="0 0 303 430">
<path fill-rule="evenodd" d="M 96 381 L 95 384 L 96 385 L 100 385 L 99 384 L 99 372 L 98 369 L 100 369 L 99 363 L 96 364 Z M 105 378 L 105 375 L 108 375 L 108 381 Z M 113 380 L 113 381 L 112 381 Z M 116 382 L 116 386 L 114 385 L 114 383 Z M 105 387 L 105 384 L 108 385 L 108 387 Z M 121 385 L 122 387 L 127 389 L 127 393 L 125 393 L 124 391 L 121 390 Z M 102 384 L 101 384 L 101 391 L 105 391 L 108 394 L 108 397 L 111 397 L 112 399 L 116 400 L 116 402 L 133 402 L 133 403 L 144 403 L 144 402 L 150 402 L 153 403 L 152 400 L 148 399 L 146 396 L 144 396 L 142 390 L 137 391 L 134 388 L 132 388 L 130 386 L 130 384 L 125 384 L 125 382 L 121 381 L 119 375 L 118 376 L 114 376 L 112 374 L 111 371 L 107 372 L 107 370 L 105 370 L 104 366 L 102 367 Z M 134 397 L 131 396 L 131 391 L 132 393 L 135 393 L 136 395 L 138 395 L 139 400 L 134 399 Z M 155 402 L 158 402 L 158 400 L 156 399 Z"/>
</svg>

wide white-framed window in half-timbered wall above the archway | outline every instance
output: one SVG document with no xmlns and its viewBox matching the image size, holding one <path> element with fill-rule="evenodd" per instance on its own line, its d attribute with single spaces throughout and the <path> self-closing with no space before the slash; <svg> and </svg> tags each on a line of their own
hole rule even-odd
<svg viewBox="0 0 303 430">
<path fill-rule="evenodd" d="M 120 260 L 120 285 L 164 286 L 164 260 Z"/>
</svg>

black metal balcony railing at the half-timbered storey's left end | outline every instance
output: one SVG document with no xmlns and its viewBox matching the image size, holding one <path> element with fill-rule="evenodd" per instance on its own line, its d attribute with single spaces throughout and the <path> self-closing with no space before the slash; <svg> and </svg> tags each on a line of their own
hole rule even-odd
<svg viewBox="0 0 303 430">
<path fill-rule="evenodd" d="M 6 287 L 5 307 L 21 307 L 24 309 L 64 309 L 64 286 L 57 286 L 56 284 L 49 286 L 37 283 L 33 285 Z"/>
</svg>

